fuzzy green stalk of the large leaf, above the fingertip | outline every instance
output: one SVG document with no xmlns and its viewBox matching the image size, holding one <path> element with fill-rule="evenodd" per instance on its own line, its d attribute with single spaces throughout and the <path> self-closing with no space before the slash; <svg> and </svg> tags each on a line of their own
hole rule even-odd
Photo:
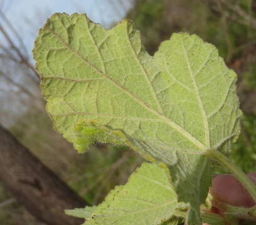
<svg viewBox="0 0 256 225">
<path fill-rule="evenodd" d="M 206 154 L 218 161 L 218 163 L 228 168 L 230 173 L 232 173 L 233 176 L 235 176 L 235 178 L 240 181 L 240 183 L 245 187 L 245 189 L 247 189 L 253 200 L 256 202 L 256 185 L 248 178 L 245 173 L 243 173 L 242 169 L 238 168 L 230 159 L 228 159 L 218 150 L 209 149 Z"/>
</svg>

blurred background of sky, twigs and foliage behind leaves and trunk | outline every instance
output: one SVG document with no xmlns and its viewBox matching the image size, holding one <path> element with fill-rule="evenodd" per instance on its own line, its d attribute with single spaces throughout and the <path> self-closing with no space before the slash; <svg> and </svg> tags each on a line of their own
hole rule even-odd
<svg viewBox="0 0 256 225">
<path fill-rule="evenodd" d="M 0 0 L 0 124 L 88 204 L 99 204 L 110 189 L 127 181 L 142 159 L 130 149 L 99 144 L 77 154 L 53 130 L 31 50 L 38 30 L 54 12 L 85 12 L 107 29 L 124 18 L 132 19 L 149 54 L 179 31 L 214 44 L 238 74 L 244 113 L 230 157 L 245 172 L 256 170 L 255 0 Z M 1 180 L 0 224 L 43 224 Z"/>
</svg>

